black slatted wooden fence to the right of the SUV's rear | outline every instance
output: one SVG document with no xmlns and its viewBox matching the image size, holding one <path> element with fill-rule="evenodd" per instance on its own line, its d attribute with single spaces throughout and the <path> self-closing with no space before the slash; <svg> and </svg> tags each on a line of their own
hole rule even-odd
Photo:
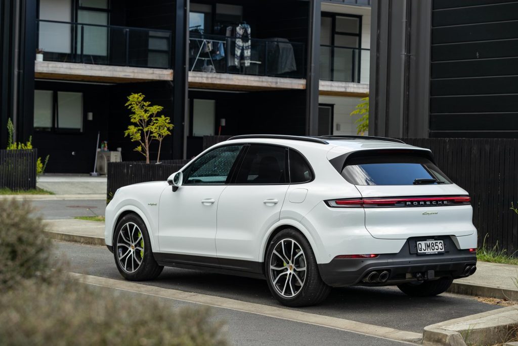
<svg viewBox="0 0 518 346">
<path fill-rule="evenodd" d="M 518 250 L 518 140 L 515 139 L 402 139 L 433 151 L 438 167 L 469 192 L 479 245 Z"/>
</svg>

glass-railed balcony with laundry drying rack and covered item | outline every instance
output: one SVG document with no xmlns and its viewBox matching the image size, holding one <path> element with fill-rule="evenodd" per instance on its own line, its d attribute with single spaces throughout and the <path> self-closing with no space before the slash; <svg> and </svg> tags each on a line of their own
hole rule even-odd
<svg viewBox="0 0 518 346">
<path fill-rule="evenodd" d="M 250 59 L 236 59 L 236 38 L 192 33 L 189 71 L 234 75 L 305 78 L 306 48 L 286 39 L 250 39 Z"/>
</svg>

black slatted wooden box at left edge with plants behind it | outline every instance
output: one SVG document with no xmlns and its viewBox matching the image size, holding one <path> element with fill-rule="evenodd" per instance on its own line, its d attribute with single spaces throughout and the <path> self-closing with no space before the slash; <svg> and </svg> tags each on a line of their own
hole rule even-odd
<svg viewBox="0 0 518 346">
<path fill-rule="evenodd" d="M 0 188 L 35 189 L 37 158 L 36 149 L 0 150 Z"/>
</svg>

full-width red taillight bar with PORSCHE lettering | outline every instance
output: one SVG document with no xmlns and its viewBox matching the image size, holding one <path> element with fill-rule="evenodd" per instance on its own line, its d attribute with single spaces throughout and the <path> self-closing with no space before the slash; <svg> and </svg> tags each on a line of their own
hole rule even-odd
<svg viewBox="0 0 518 346">
<path fill-rule="evenodd" d="M 469 196 L 347 198 L 326 201 L 330 207 L 444 206 L 470 204 Z"/>
</svg>

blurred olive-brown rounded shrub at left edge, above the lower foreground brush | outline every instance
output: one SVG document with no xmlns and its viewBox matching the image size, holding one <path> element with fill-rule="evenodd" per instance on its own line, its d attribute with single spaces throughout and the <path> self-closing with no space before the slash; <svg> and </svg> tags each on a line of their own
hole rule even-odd
<svg viewBox="0 0 518 346">
<path fill-rule="evenodd" d="M 52 272 L 50 240 L 39 217 L 31 216 L 29 202 L 0 200 L 0 288 L 10 288 L 23 279 L 48 279 Z"/>
</svg>

